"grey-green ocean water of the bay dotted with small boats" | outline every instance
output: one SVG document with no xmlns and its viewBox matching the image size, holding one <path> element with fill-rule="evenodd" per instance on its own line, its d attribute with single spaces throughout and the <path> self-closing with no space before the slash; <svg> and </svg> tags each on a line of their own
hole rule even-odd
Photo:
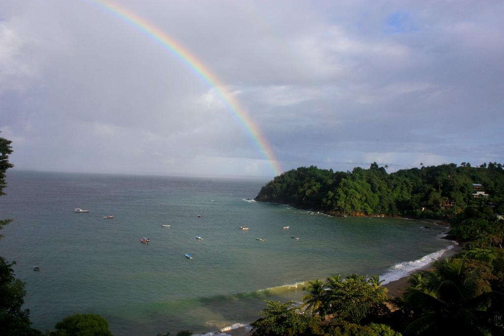
<svg viewBox="0 0 504 336">
<path fill-rule="evenodd" d="M 0 218 L 15 221 L 0 255 L 17 261 L 25 307 L 42 330 L 97 313 L 114 335 L 209 332 L 254 321 L 263 300 L 300 301 L 305 281 L 350 273 L 393 281 L 453 246 L 435 224 L 247 200 L 266 179 L 10 170 L 7 181 Z"/>
</svg>

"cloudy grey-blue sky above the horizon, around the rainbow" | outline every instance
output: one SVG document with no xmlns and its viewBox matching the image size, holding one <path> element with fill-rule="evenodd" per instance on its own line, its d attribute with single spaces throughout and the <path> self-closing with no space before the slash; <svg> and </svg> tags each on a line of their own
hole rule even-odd
<svg viewBox="0 0 504 336">
<path fill-rule="evenodd" d="M 117 4 L 220 80 L 282 170 L 504 162 L 504 2 Z M 275 173 L 216 88 L 91 0 L 0 0 L 0 130 L 16 169 Z"/>
</svg>

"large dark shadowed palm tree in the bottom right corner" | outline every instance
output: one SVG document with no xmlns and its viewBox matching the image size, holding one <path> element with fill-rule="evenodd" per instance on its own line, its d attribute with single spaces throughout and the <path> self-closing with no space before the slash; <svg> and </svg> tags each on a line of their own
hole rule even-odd
<svg viewBox="0 0 504 336">
<path fill-rule="evenodd" d="M 477 272 L 464 272 L 462 262 L 445 259 L 436 262 L 434 276 L 426 287 L 411 288 L 405 302 L 413 313 L 406 332 L 412 334 L 483 335 L 484 330 L 497 334 L 499 313 L 487 310 L 492 303 L 504 300 L 499 292 L 478 293 Z"/>
</svg>

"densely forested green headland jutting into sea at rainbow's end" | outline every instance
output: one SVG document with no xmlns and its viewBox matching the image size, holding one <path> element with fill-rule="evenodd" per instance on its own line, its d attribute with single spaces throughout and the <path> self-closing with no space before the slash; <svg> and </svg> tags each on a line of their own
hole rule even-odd
<svg viewBox="0 0 504 336">
<path fill-rule="evenodd" d="M 473 183 L 488 196 L 475 197 Z M 333 215 L 386 215 L 453 218 L 468 206 L 490 205 L 504 212 L 504 170 L 500 163 L 469 163 L 403 169 L 388 174 L 372 163 L 369 169 L 333 172 L 316 166 L 289 170 L 266 184 L 256 200 L 290 204 Z"/>
</svg>

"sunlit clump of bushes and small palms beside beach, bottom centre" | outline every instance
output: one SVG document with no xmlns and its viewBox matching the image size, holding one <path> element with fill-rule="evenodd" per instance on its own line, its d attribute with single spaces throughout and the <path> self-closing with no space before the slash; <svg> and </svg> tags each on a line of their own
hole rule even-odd
<svg viewBox="0 0 504 336">
<path fill-rule="evenodd" d="M 400 336 L 377 322 L 389 312 L 387 290 L 377 277 L 350 275 L 308 283 L 301 307 L 266 301 L 264 317 L 253 322 L 254 335 Z M 375 321 L 375 322 L 373 322 Z"/>
</svg>

